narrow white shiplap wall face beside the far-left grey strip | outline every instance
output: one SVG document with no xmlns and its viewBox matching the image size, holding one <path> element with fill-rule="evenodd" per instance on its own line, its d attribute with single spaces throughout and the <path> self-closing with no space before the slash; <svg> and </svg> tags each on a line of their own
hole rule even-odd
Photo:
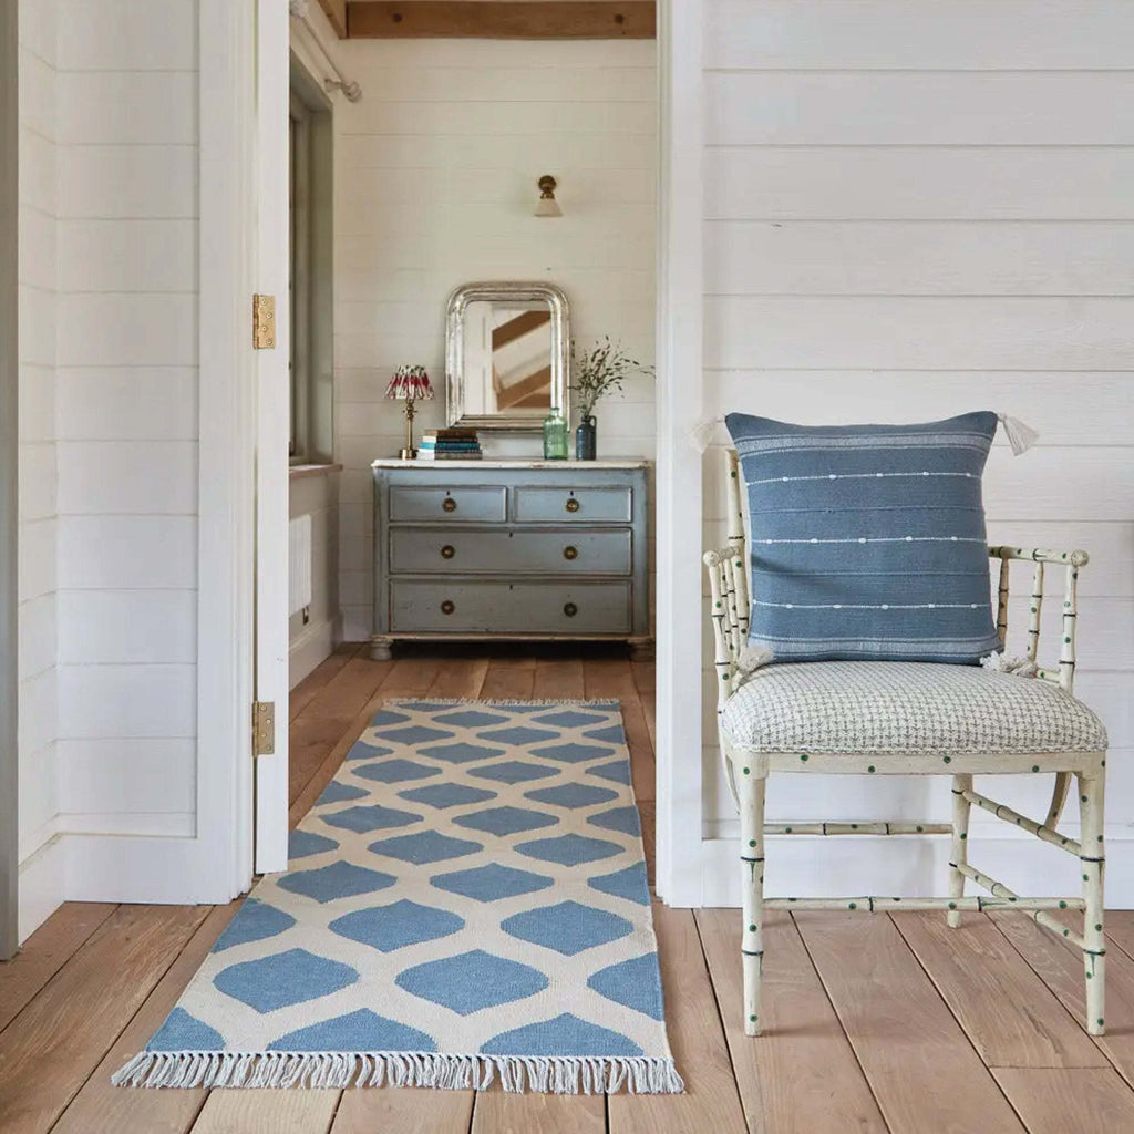
<svg viewBox="0 0 1134 1134">
<path fill-rule="evenodd" d="M 51 855 L 56 773 L 56 162 L 53 0 L 19 18 L 19 861 L 20 939 L 61 898 Z"/>
</svg>

